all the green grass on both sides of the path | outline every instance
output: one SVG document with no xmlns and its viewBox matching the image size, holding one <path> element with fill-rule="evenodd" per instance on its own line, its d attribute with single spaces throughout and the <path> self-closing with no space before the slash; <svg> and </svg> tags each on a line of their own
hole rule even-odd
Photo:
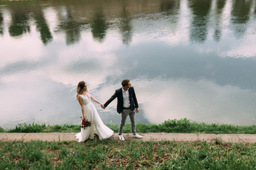
<svg viewBox="0 0 256 170">
<path fill-rule="evenodd" d="M 118 125 L 108 125 L 114 132 Z M 255 125 L 196 123 L 186 118 L 159 125 L 137 123 L 137 132 L 255 134 Z M 18 124 L 0 132 L 79 132 L 80 125 Z M 130 123 L 123 132 L 131 132 Z M 0 142 L 0 169 L 256 169 L 256 145 L 213 142 Z"/>
</svg>

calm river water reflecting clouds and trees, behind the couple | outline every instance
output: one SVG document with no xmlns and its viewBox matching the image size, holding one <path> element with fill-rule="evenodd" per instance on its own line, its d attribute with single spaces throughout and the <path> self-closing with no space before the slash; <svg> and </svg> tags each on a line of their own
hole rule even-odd
<svg viewBox="0 0 256 170">
<path fill-rule="evenodd" d="M 79 124 L 130 79 L 136 121 L 255 125 L 255 0 L 0 2 L 0 126 Z M 102 110 L 118 124 L 117 100 Z M 129 122 L 129 118 L 127 118 Z"/>
</svg>

